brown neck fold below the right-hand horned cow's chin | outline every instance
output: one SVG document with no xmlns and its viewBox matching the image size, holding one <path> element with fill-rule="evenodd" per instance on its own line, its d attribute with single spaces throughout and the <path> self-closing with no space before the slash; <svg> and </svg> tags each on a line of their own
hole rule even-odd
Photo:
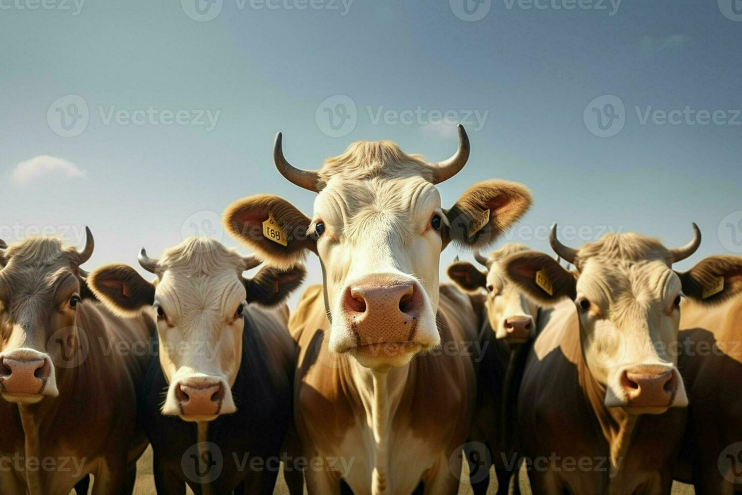
<svg viewBox="0 0 742 495">
<path fill-rule="evenodd" d="M 608 442 L 611 455 L 611 470 L 613 474 L 620 475 L 620 467 L 623 459 L 626 459 L 631 436 L 637 424 L 637 416 L 626 413 L 620 407 L 605 407 L 605 385 L 600 384 L 590 372 L 585 356 L 579 353 L 577 361 L 577 376 L 580 389 L 585 396 L 588 406 L 594 413 L 594 417 L 603 433 L 603 438 Z M 616 482 L 617 477 L 613 478 Z"/>
</svg>

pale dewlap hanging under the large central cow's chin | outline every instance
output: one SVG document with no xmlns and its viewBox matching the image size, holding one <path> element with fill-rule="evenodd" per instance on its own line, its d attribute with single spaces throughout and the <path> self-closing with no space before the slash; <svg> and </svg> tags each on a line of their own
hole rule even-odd
<svg viewBox="0 0 742 495">
<path fill-rule="evenodd" d="M 404 390 L 409 385 L 410 364 L 390 370 L 376 371 L 362 367 L 355 359 L 351 366 L 358 377 L 361 404 L 366 414 L 367 424 L 373 435 L 373 474 L 371 493 L 383 495 L 393 493 L 393 479 L 390 479 L 393 421 L 401 403 Z"/>
</svg>

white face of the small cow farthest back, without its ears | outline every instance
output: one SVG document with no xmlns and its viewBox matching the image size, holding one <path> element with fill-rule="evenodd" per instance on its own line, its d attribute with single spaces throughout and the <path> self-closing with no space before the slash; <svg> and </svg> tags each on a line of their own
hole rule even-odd
<svg viewBox="0 0 742 495">
<path fill-rule="evenodd" d="M 496 338 L 522 344 L 536 334 L 539 305 L 508 281 L 502 266 L 493 262 L 487 271 L 485 308 Z"/>
</svg>

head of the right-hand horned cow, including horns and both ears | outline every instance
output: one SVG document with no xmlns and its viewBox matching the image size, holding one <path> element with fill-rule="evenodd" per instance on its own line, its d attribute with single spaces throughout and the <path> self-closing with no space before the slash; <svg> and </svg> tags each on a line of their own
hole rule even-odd
<svg viewBox="0 0 742 495">
<path fill-rule="evenodd" d="M 580 317 L 585 363 L 605 386 L 605 405 L 629 413 L 663 413 L 688 404 L 677 370 L 680 301 L 685 294 L 706 303 L 742 289 L 739 258 L 707 258 L 686 273 L 672 263 L 700 245 L 700 231 L 686 246 L 667 249 L 641 235 L 609 234 L 571 249 L 551 231 L 551 246 L 574 263 L 563 269 L 543 253 L 524 252 L 505 260 L 508 277 L 542 304 L 571 298 Z"/>
</svg>

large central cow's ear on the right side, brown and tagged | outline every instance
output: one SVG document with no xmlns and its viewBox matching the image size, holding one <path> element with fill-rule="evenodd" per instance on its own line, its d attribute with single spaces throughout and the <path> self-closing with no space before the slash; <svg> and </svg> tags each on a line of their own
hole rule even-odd
<svg viewBox="0 0 742 495">
<path fill-rule="evenodd" d="M 507 180 L 485 180 L 467 189 L 446 212 L 448 237 L 464 249 L 490 246 L 531 207 L 531 191 Z"/>
</svg>

